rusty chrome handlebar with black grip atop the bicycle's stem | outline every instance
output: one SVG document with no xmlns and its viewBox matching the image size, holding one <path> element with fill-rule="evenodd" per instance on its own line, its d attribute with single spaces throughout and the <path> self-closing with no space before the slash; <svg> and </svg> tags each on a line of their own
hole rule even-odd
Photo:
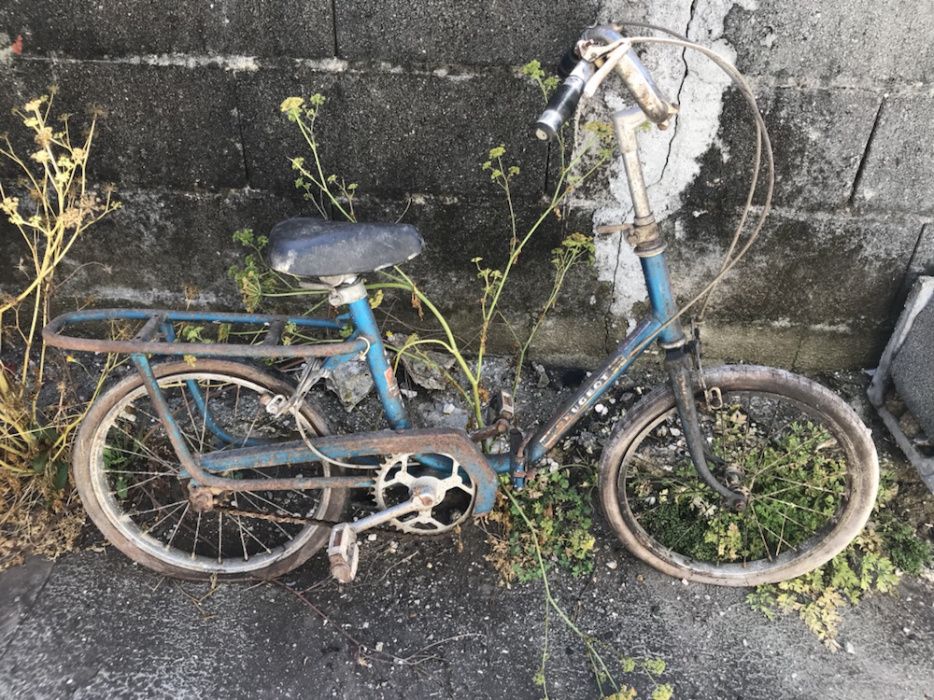
<svg viewBox="0 0 934 700">
<path fill-rule="evenodd" d="M 603 66 L 596 70 L 594 64 L 587 60 L 587 49 L 613 45 L 616 46 L 615 49 L 606 53 L 601 52 L 592 59 L 604 61 Z M 584 58 L 579 58 L 581 53 Z M 574 65 L 575 60 L 577 60 L 576 65 Z M 542 140 L 555 138 L 564 122 L 574 114 L 584 94 L 584 89 L 588 88 L 588 83 L 594 83 L 587 91 L 590 96 L 610 70 L 615 71 L 622 78 L 646 118 L 658 124 L 661 129 L 668 126 L 668 120 L 678 111 L 677 105 L 667 100 L 655 84 L 652 75 L 639 60 L 635 50 L 627 47 L 623 35 L 617 31 L 616 27 L 604 24 L 586 29 L 576 49 L 568 51 L 562 57 L 558 72 L 567 77 L 552 95 L 545 111 L 535 123 L 535 135 Z"/>
</svg>

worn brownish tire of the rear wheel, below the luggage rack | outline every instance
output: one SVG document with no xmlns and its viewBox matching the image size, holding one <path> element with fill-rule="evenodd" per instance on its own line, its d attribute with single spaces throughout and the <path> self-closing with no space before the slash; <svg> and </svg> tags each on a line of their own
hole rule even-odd
<svg viewBox="0 0 934 700">
<path fill-rule="evenodd" d="M 260 369 L 238 362 L 198 360 L 194 366 L 185 362 L 153 366 L 153 373 L 157 380 L 171 378 L 173 375 L 190 374 L 192 372 L 213 373 L 246 380 L 265 387 L 272 393 L 288 395 L 294 388 L 287 382 L 277 379 Z M 75 441 L 72 458 L 72 475 L 75 487 L 81 496 L 81 501 L 91 520 L 111 544 L 130 559 L 160 574 L 190 580 L 208 580 L 215 577 L 220 580 L 244 580 L 249 578 L 274 578 L 280 576 L 303 564 L 327 543 L 329 528 L 322 525 L 312 525 L 309 527 L 314 527 L 316 530 L 311 534 L 307 542 L 288 556 L 271 562 L 263 568 L 258 568 L 247 574 L 226 574 L 223 572 L 204 573 L 176 566 L 153 556 L 142 549 L 131 537 L 121 532 L 121 530 L 115 526 L 105 508 L 101 506 L 98 494 L 94 488 L 92 478 L 92 469 L 94 468 L 92 465 L 92 446 L 95 440 L 98 439 L 98 431 L 102 427 L 106 428 L 105 421 L 108 419 L 110 412 L 121 403 L 124 397 L 137 391 L 142 385 L 143 381 L 140 375 L 137 372 L 133 372 L 104 392 L 104 394 L 94 402 L 94 405 L 85 416 L 81 429 L 78 432 L 77 440 Z M 302 407 L 302 415 L 306 418 L 308 423 L 314 427 L 319 435 L 328 433 L 327 424 L 324 419 L 317 411 L 309 406 L 307 402 Z M 337 471 L 336 467 L 331 468 Z M 348 492 L 346 489 L 327 489 L 327 491 L 330 493 L 326 512 L 319 514 L 318 517 L 325 520 L 337 521 L 345 510 L 348 501 Z"/>
</svg>

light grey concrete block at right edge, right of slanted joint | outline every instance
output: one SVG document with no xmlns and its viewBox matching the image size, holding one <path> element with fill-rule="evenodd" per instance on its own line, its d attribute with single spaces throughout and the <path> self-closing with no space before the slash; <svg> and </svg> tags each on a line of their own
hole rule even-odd
<svg viewBox="0 0 934 700">
<path fill-rule="evenodd" d="M 934 96 L 885 100 L 856 191 L 864 207 L 934 212 Z"/>
</svg>

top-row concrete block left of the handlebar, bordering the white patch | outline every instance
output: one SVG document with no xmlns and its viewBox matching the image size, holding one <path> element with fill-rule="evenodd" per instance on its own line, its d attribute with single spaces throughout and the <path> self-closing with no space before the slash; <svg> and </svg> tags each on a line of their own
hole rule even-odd
<svg viewBox="0 0 934 700">
<path fill-rule="evenodd" d="M 548 64 L 593 24 L 598 6 L 597 0 L 342 2 L 336 5 L 338 53 L 391 62 L 521 65 L 538 58 Z"/>
</svg>

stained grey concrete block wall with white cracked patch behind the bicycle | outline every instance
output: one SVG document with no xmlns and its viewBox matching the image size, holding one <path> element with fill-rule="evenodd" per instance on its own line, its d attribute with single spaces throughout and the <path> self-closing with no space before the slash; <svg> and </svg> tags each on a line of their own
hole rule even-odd
<svg viewBox="0 0 934 700">
<path fill-rule="evenodd" d="M 501 263 L 505 204 L 479 164 L 505 143 L 522 168 L 515 204 L 534 216 L 554 153 L 531 138 L 536 90 L 517 75 L 548 63 L 595 19 L 667 26 L 735 60 L 775 147 L 775 213 L 715 297 L 708 350 L 784 366 L 870 365 L 913 276 L 934 272 L 934 3 L 896 0 L 0 0 L 0 132 L 9 108 L 49 83 L 80 112 L 106 108 L 95 175 L 125 208 L 74 251 L 64 289 L 94 303 L 236 306 L 232 230 L 307 212 L 287 158 L 301 153 L 278 113 L 324 92 L 323 154 L 360 183 L 362 216 L 404 216 L 427 241 L 412 272 L 469 335 L 471 258 Z M 669 236 L 679 298 L 717 270 L 742 202 L 752 127 L 706 59 L 649 48 L 646 64 L 681 105 L 642 138 L 649 192 Z M 627 103 L 618 86 L 585 112 Z M 0 165 L 0 177 L 10 177 Z M 583 188 L 524 256 L 507 300 L 527 326 L 548 293 L 549 251 L 569 230 L 631 216 L 621 165 Z M 534 353 L 591 364 L 644 309 L 638 261 L 597 240 Z M 0 284 L 15 284 L 16 237 L 0 228 Z M 95 263 L 95 264 L 87 264 Z M 407 313 L 404 304 L 393 315 Z M 570 343 L 569 338 L 574 342 Z M 494 329 L 507 348 L 511 334 Z"/>
</svg>

